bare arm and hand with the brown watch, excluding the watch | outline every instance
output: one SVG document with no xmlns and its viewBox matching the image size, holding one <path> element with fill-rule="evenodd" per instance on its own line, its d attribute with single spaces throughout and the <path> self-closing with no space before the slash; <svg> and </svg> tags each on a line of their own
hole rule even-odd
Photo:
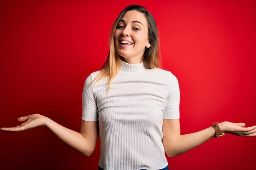
<svg viewBox="0 0 256 170">
<path fill-rule="evenodd" d="M 232 133 L 238 136 L 256 136 L 256 126 L 244 126 L 244 123 L 219 123 L 220 129 L 224 133 Z M 163 134 L 163 145 L 166 154 L 169 157 L 173 157 L 192 150 L 209 139 L 212 139 L 215 135 L 215 130 L 211 126 L 195 133 L 180 135 L 180 120 L 164 119 Z"/>
</svg>

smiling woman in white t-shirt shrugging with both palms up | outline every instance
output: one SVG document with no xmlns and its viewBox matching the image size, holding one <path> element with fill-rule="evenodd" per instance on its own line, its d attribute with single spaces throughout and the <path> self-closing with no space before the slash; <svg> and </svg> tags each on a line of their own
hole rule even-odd
<svg viewBox="0 0 256 170">
<path fill-rule="evenodd" d="M 84 83 L 81 133 L 40 114 L 20 117 L 26 122 L 0 130 L 45 126 L 86 156 L 99 135 L 99 170 L 167 170 L 165 153 L 177 156 L 225 133 L 256 136 L 256 126 L 232 122 L 180 135 L 178 81 L 160 68 L 158 53 L 154 18 L 142 6 L 128 6 L 113 25 L 105 64 Z"/>
</svg>

